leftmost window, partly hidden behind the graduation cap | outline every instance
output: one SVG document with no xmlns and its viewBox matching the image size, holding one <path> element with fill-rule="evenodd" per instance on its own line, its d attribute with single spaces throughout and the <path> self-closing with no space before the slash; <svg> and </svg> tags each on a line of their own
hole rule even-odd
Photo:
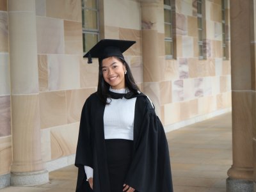
<svg viewBox="0 0 256 192">
<path fill-rule="evenodd" d="M 82 1 L 83 52 L 99 41 L 99 5 L 97 0 Z"/>
</svg>

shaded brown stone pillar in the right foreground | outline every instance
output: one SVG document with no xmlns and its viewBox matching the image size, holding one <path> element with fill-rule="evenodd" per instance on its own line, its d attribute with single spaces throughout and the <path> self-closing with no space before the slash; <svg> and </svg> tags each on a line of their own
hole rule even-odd
<svg viewBox="0 0 256 192">
<path fill-rule="evenodd" d="M 228 192 L 253 191 L 253 164 L 256 161 L 253 157 L 253 127 L 255 127 L 253 1 L 255 0 L 230 1 L 233 164 L 228 170 Z"/>
</svg>

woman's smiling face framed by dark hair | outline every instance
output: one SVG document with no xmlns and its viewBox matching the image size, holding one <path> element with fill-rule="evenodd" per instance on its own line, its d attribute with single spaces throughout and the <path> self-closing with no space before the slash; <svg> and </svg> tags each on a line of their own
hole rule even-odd
<svg viewBox="0 0 256 192">
<path fill-rule="evenodd" d="M 125 88 L 125 65 L 115 57 L 102 60 L 102 75 L 114 90 Z"/>
</svg>

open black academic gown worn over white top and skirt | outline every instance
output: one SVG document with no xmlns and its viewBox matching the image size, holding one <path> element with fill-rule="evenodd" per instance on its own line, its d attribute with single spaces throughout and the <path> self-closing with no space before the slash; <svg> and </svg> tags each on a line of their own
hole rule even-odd
<svg viewBox="0 0 256 192">
<path fill-rule="evenodd" d="M 124 183 L 138 192 L 172 192 L 170 157 L 163 125 L 146 95 L 140 93 L 133 97 L 137 97 L 134 146 Z M 86 182 L 84 165 L 93 168 L 93 191 L 111 192 L 104 140 L 104 108 L 97 93 L 90 95 L 83 106 L 75 162 L 78 167 L 77 192 L 92 191 Z"/>
</svg>

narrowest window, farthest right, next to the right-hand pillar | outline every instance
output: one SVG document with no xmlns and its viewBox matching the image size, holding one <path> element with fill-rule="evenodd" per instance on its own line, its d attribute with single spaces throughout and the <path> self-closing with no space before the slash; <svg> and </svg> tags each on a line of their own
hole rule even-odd
<svg viewBox="0 0 256 192">
<path fill-rule="evenodd" d="M 221 0 L 221 20 L 222 20 L 222 58 L 223 60 L 227 60 L 227 44 L 226 44 L 226 1 Z"/>
</svg>

